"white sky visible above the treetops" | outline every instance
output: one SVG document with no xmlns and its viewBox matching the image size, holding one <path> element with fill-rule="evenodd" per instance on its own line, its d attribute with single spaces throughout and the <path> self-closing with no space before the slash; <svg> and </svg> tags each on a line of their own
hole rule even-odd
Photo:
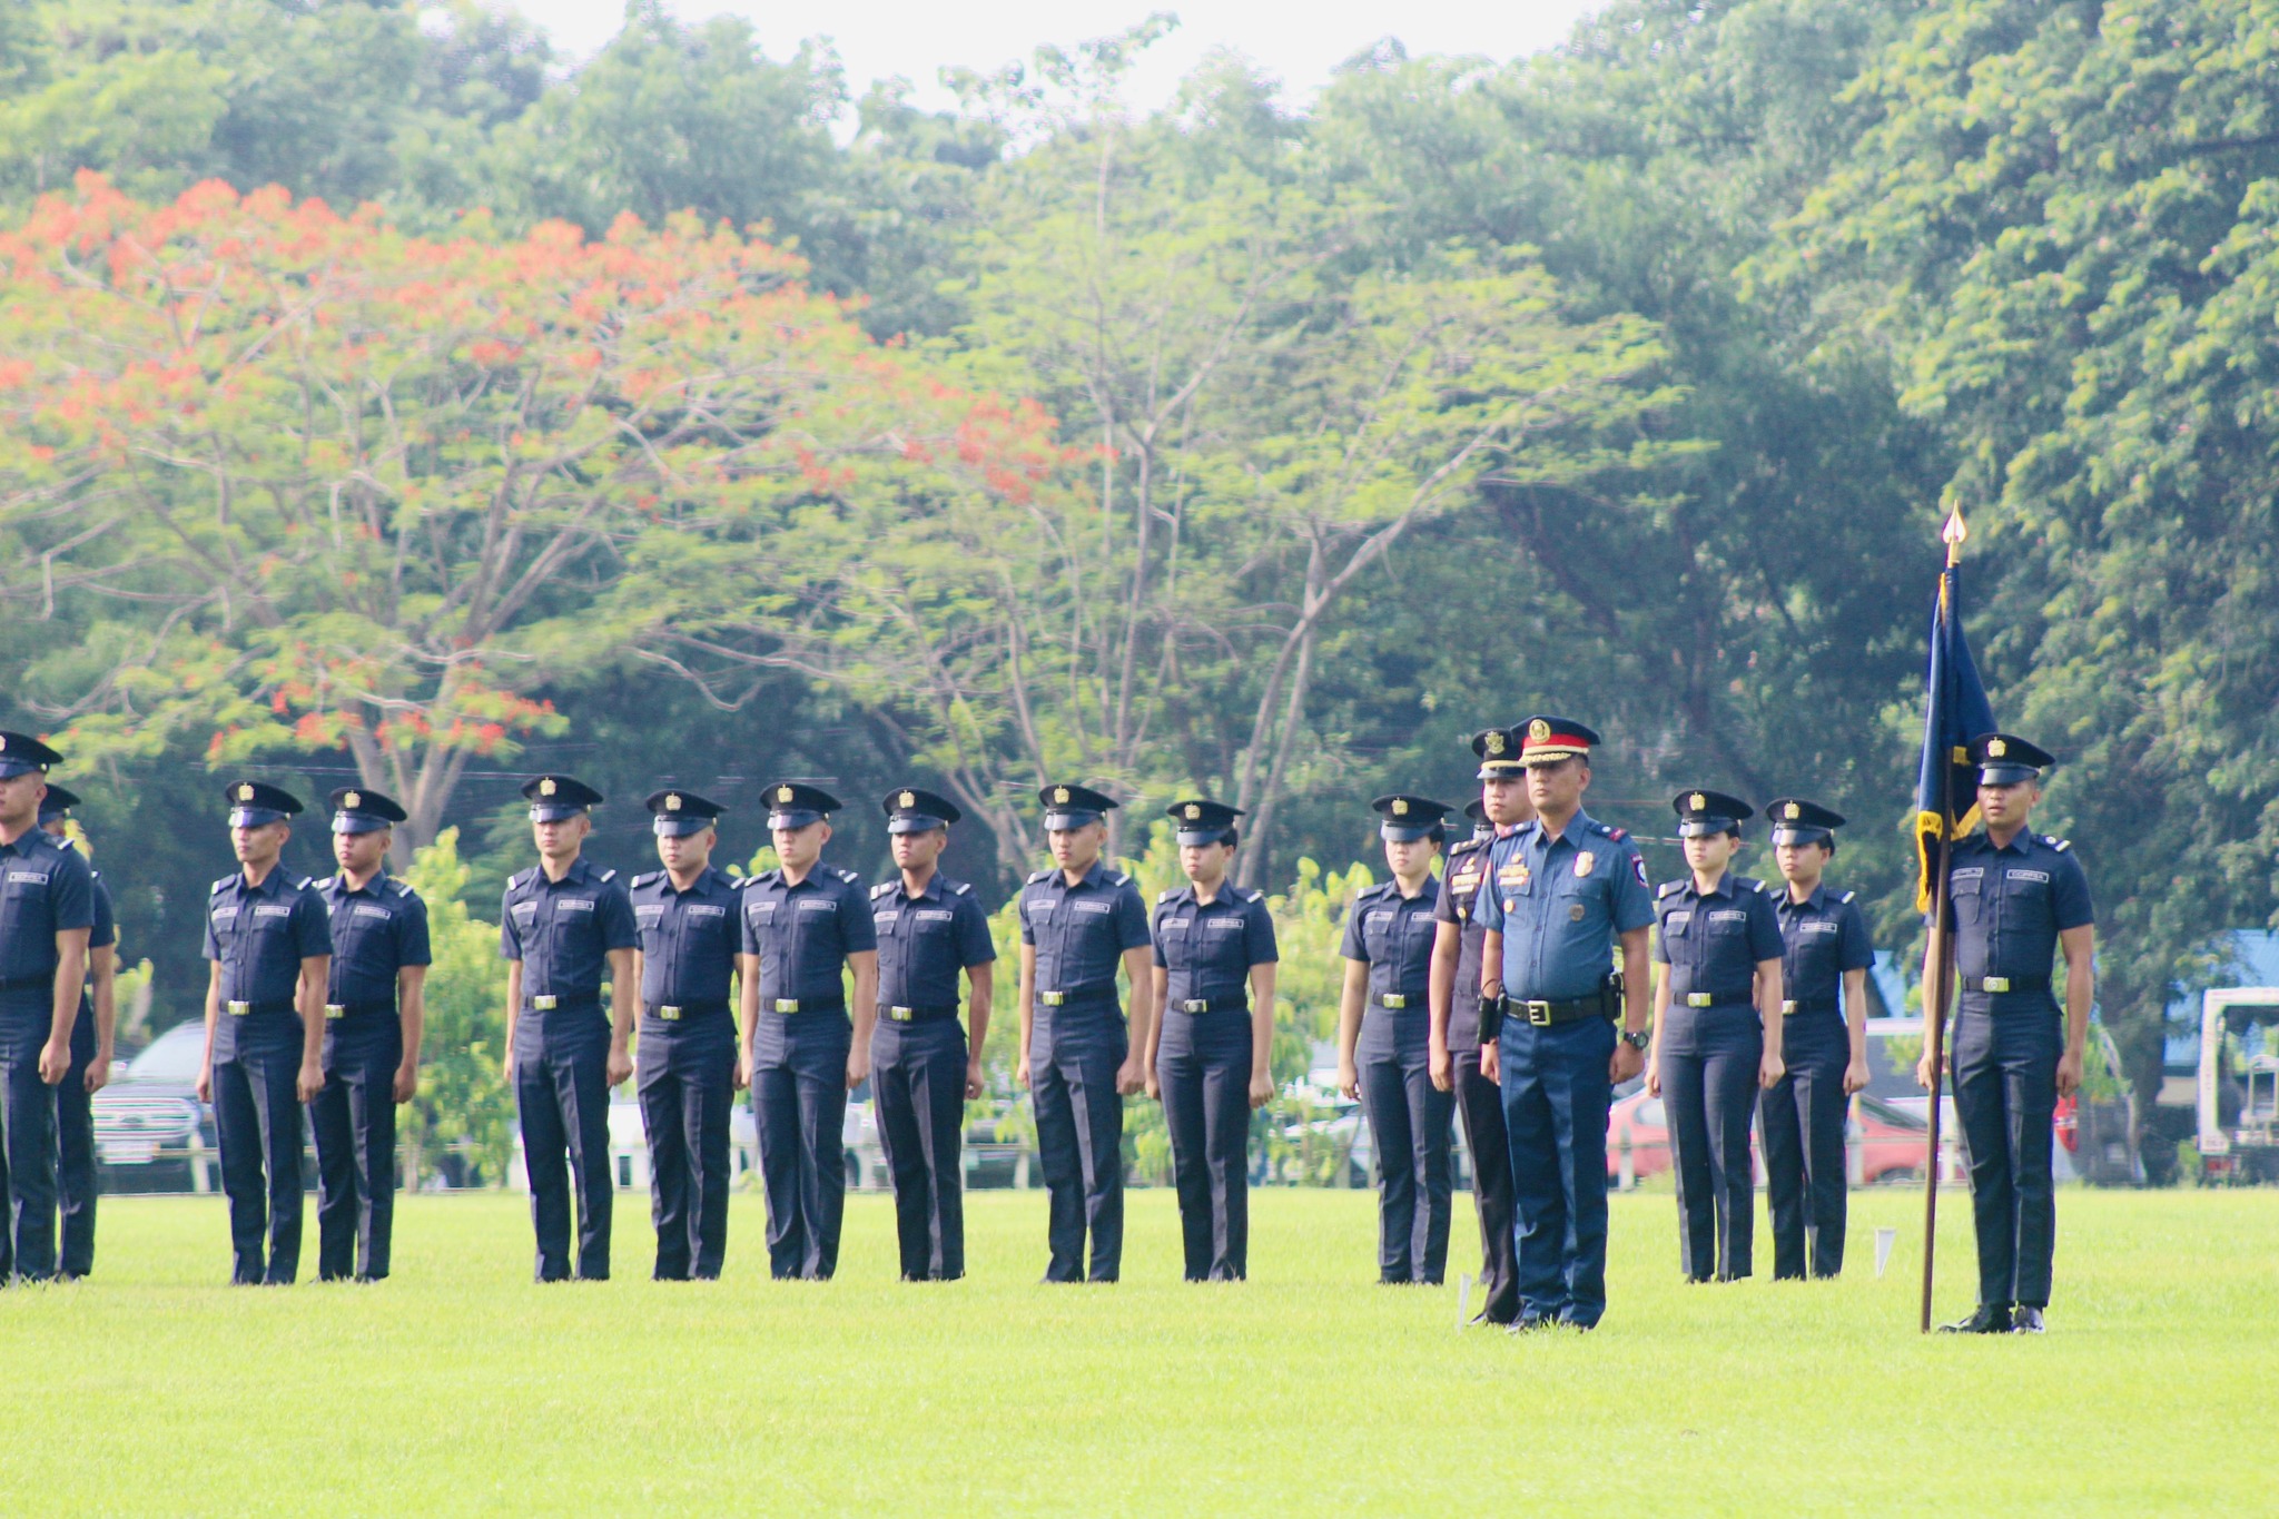
<svg viewBox="0 0 2279 1519">
<path fill-rule="evenodd" d="M 606 43 L 624 18 L 624 0 L 506 0 L 536 18 L 563 52 L 586 57 Z M 902 75 L 918 87 L 916 102 L 950 102 L 937 82 L 944 64 L 994 71 L 1028 59 L 1037 43 L 1076 43 L 1108 36 L 1153 9 L 1178 14 L 1181 25 L 1155 43 L 1133 75 L 1130 102 L 1155 107 L 1215 46 L 1235 48 L 1283 82 L 1290 105 L 1301 105 L 1329 71 L 1381 36 L 1399 36 L 1411 57 L 1422 52 L 1479 52 L 1495 59 L 1538 52 L 1561 41 L 1575 18 L 1602 0 L 836 0 L 830 7 L 768 5 L 766 0 L 668 0 L 684 20 L 718 14 L 750 16 L 761 48 L 789 57 L 802 36 L 830 36 L 859 98 L 873 80 Z"/>
</svg>

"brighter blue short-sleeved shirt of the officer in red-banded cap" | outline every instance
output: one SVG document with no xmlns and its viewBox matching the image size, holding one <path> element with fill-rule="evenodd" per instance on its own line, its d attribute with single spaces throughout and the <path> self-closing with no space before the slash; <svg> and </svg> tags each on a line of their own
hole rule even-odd
<svg viewBox="0 0 2279 1519">
<path fill-rule="evenodd" d="M 1506 997 L 1575 1002 L 1614 970 L 1618 936 L 1655 920 L 1645 856 L 1623 829 L 1575 813 L 1559 838 L 1522 822 L 1488 847 L 1472 920 L 1504 936 Z"/>
</svg>

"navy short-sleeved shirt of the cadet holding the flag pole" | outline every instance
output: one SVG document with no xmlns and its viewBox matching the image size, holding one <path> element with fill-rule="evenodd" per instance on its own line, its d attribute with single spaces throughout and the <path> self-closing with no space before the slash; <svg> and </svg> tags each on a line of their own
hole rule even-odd
<svg viewBox="0 0 2279 1519">
<path fill-rule="evenodd" d="M 2042 982 L 2058 954 L 2058 934 L 2090 927 L 2090 877 L 2072 845 L 2047 834 L 2019 834 L 1996 847 L 1985 834 L 1955 840 L 1946 868 L 1953 904 L 1955 970 L 1964 1007 L 2044 1009 L 2044 984 L 2008 993 L 1974 991 L 1985 977 Z"/>
</svg>

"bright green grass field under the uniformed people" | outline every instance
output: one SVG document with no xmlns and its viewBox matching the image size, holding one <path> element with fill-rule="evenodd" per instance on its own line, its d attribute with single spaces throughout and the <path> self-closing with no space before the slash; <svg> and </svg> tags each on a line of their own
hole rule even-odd
<svg viewBox="0 0 2279 1519">
<path fill-rule="evenodd" d="M 533 1287 L 522 1202 L 454 1196 L 401 1202 L 394 1280 L 289 1291 L 219 1284 L 219 1198 L 107 1198 L 93 1280 L 0 1294 L 0 1510 L 2270 1512 L 2279 1193 L 2062 1193 L 2044 1339 L 1914 1332 L 1914 1193 L 1857 1193 L 1812 1287 L 1684 1287 L 1671 1209 L 1616 1198 L 1600 1332 L 1511 1339 L 1374 1287 L 1351 1191 L 1253 1193 L 1240 1287 L 1133 1193 L 1105 1289 L 1035 1284 L 1044 1193 L 973 1196 L 941 1287 L 875 1196 L 836 1282 L 766 1280 L 738 1196 L 727 1280 L 652 1284 L 620 1193 L 606 1284 Z"/>
</svg>

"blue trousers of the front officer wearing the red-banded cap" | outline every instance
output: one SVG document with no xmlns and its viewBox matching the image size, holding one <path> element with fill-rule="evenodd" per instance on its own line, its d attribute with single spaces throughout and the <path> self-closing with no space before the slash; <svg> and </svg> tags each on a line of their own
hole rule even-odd
<svg viewBox="0 0 2279 1519">
<path fill-rule="evenodd" d="M 1506 1018 L 1497 1059 L 1520 1214 L 1520 1316 L 1591 1328 L 1607 1312 L 1614 1023 Z"/>
</svg>

